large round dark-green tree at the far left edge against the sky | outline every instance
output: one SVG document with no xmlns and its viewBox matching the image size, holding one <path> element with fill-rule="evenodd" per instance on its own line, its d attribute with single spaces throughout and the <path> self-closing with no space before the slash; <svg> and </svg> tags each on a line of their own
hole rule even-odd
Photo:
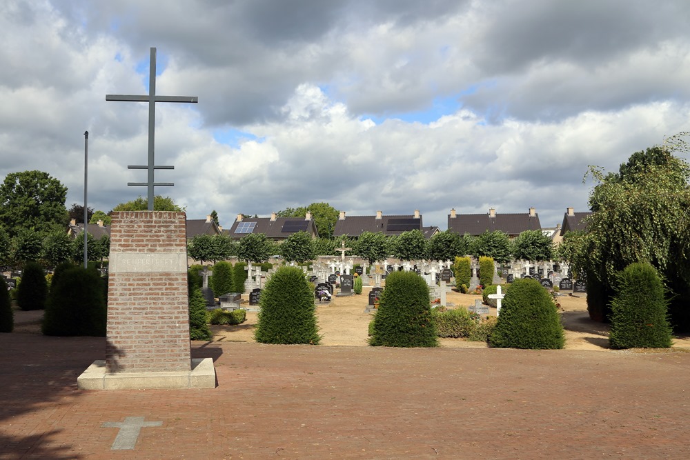
<svg viewBox="0 0 690 460">
<path fill-rule="evenodd" d="M 0 186 L 0 224 L 10 237 L 19 230 L 41 234 L 66 226 L 67 188 L 47 172 L 12 172 Z"/>
</svg>

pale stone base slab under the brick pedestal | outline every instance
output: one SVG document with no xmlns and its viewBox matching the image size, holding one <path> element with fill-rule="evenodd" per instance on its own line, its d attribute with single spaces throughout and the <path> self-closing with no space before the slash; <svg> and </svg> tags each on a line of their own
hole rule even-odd
<svg viewBox="0 0 690 460">
<path fill-rule="evenodd" d="M 192 359 L 189 372 L 106 372 L 106 361 L 94 361 L 77 377 L 79 390 L 148 390 L 215 388 L 213 359 Z"/>
</svg>

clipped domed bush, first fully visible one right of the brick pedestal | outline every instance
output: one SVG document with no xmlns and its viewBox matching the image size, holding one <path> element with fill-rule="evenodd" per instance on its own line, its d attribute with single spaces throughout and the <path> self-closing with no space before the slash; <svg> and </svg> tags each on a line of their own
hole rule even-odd
<svg viewBox="0 0 690 460">
<path fill-rule="evenodd" d="M 254 337 L 261 343 L 311 343 L 321 340 L 314 288 L 297 267 L 281 267 L 266 282 L 259 299 Z"/>
</svg>

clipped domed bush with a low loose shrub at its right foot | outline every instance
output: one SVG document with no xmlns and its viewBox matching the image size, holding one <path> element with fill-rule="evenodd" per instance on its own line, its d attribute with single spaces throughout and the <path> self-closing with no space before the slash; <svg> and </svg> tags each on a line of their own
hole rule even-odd
<svg viewBox="0 0 690 460">
<path fill-rule="evenodd" d="M 435 347 L 436 328 L 431 319 L 429 289 L 415 272 L 393 272 L 386 277 L 374 318 L 371 346 Z"/>
</svg>

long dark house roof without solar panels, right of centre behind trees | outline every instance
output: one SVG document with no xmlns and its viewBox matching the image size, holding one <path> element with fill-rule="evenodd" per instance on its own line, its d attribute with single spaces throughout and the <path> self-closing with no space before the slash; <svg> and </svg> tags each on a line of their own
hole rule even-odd
<svg viewBox="0 0 690 460">
<path fill-rule="evenodd" d="M 478 236 L 484 232 L 500 230 L 509 237 L 517 237 L 525 230 L 542 230 L 539 214 L 529 212 L 520 214 L 453 214 L 448 215 L 448 228 L 459 234 Z"/>
</svg>

